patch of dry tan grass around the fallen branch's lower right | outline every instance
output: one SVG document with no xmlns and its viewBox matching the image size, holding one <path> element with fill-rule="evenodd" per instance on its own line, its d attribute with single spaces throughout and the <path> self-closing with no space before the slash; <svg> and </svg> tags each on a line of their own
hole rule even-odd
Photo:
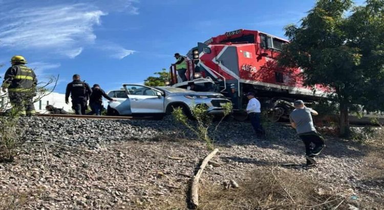
<svg viewBox="0 0 384 210">
<path fill-rule="evenodd" d="M 327 192 L 322 186 L 290 170 L 267 168 L 253 171 L 239 188 L 202 184 L 199 209 L 344 209 L 349 191 Z M 319 190 L 323 189 L 323 190 Z M 162 200 L 157 209 L 187 209 L 186 192 Z"/>
</svg>

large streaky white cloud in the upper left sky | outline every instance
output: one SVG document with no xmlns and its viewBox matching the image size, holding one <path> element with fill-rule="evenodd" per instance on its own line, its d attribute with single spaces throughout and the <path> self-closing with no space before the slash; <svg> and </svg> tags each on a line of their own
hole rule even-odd
<svg viewBox="0 0 384 210">
<path fill-rule="evenodd" d="M 53 50 L 76 57 L 94 43 L 93 27 L 106 13 L 83 4 L 0 11 L 0 47 Z"/>
</svg>

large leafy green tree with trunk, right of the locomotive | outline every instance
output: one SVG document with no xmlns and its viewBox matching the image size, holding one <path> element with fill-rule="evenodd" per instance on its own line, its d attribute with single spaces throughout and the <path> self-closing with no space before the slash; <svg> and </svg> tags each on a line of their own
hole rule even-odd
<svg viewBox="0 0 384 210">
<path fill-rule="evenodd" d="M 339 103 L 340 136 L 349 135 L 348 111 L 355 104 L 382 108 L 377 100 L 384 91 L 383 11 L 383 0 L 359 7 L 352 0 L 318 0 L 301 26 L 285 28 L 290 43 L 280 65 L 302 68 L 306 86 L 332 90 L 329 97 Z"/>
</svg>

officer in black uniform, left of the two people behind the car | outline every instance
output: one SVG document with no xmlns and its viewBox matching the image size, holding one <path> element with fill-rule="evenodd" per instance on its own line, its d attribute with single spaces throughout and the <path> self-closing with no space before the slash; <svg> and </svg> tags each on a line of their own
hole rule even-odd
<svg viewBox="0 0 384 210">
<path fill-rule="evenodd" d="M 77 115 L 86 114 L 88 98 L 92 93 L 88 83 L 80 81 L 80 75 L 75 74 L 73 81 L 68 83 L 66 90 L 66 103 L 69 103 L 69 95 L 72 98 L 72 109 Z"/>
</svg>

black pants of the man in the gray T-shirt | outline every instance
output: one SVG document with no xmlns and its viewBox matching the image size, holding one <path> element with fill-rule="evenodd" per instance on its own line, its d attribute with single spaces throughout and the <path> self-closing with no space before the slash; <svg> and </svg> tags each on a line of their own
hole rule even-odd
<svg viewBox="0 0 384 210">
<path fill-rule="evenodd" d="M 305 154 L 309 157 L 315 157 L 315 154 L 323 150 L 325 146 L 324 138 L 315 131 L 302 133 L 298 136 L 303 140 L 305 145 Z"/>
</svg>

